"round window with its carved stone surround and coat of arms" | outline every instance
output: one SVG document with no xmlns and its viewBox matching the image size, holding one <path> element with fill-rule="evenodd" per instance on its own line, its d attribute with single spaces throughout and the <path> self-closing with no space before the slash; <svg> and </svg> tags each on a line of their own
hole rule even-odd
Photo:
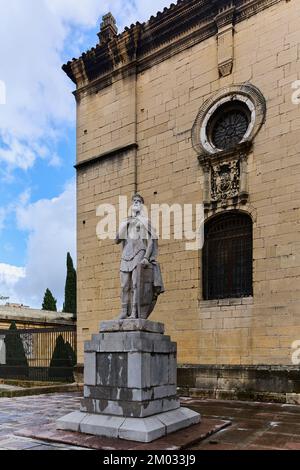
<svg viewBox="0 0 300 470">
<path fill-rule="evenodd" d="M 251 84 L 220 90 L 200 109 L 192 142 L 204 171 L 206 211 L 248 200 L 247 157 L 265 121 L 266 102 Z"/>
</svg>

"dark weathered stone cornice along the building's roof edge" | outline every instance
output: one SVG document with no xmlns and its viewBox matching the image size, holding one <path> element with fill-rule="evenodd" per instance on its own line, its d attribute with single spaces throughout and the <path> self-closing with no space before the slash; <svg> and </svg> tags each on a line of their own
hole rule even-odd
<svg viewBox="0 0 300 470">
<path fill-rule="evenodd" d="M 97 82 L 109 86 L 112 77 L 137 73 L 217 34 L 220 24 L 239 23 L 283 0 L 179 0 L 146 23 L 136 23 L 115 38 L 98 44 L 63 70 L 89 92 Z M 134 66 L 133 66 L 134 64 Z"/>
</svg>

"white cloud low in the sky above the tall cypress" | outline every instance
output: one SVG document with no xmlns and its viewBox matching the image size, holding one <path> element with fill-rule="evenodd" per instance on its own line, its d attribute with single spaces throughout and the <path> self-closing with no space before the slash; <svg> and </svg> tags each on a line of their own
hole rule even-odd
<svg viewBox="0 0 300 470">
<path fill-rule="evenodd" d="M 28 232 L 27 263 L 23 268 L 0 265 L 0 294 L 19 302 L 41 308 L 45 290 L 49 288 L 62 308 L 66 255 L 75 262 L 75 183 L 67 184 L 58 197 L 35 203 L 28 195 L 20 198 L 16 209 L 20 230 Z"/>
</svg>

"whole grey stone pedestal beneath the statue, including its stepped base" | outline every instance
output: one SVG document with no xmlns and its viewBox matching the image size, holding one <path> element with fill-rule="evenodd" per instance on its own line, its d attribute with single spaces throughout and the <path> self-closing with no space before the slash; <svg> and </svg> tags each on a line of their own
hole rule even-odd
<svg viewBox="0 0 300 470">
<path fill-rule="evenodd" d="M 85 343 L 80 411 L 58 420 L 57 428 L 151 442 L 199 423 L 200 415 L 177 399 L 176 353 L 160 323 L 102 323 Z"/>
</svg>

